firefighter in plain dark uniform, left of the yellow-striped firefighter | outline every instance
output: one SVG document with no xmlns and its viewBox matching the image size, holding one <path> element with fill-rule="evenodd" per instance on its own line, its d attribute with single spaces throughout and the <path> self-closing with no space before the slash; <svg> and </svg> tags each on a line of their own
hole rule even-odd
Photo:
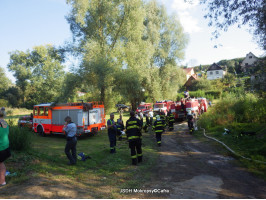
<svg viewBox="0 0 266 200">
<path fill-rule="evenodd" d="M 116 133 L 117 133 L 117 126 L 114 121 L 114 113 L 110 114 L 110 119 L 107 121 L 107 128 L 108 128 L 108 137 L 110 141 L 110 153 L 116 153 L 115 146 L 116 146 Z"/>
</svg>

